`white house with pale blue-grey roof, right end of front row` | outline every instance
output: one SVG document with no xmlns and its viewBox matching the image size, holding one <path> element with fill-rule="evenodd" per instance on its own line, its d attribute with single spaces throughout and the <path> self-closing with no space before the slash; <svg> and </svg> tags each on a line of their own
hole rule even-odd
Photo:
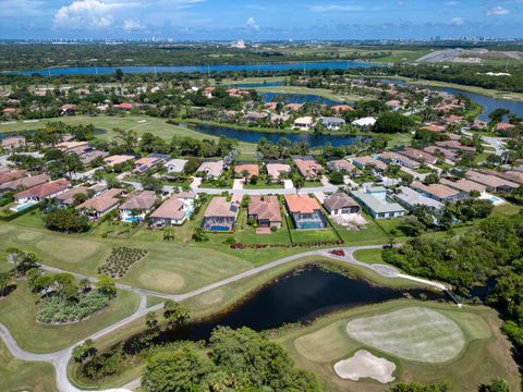
<svg viewBox="0 0 523 392">
<path fill-rule="evenodd" d="M 360 201 L 374 219 L 403 217 L 406 210 L 398 203 L 390 201 L 387 189 L 382 186 L 368 187 L 365 191 L 353 191 L 352 196 Z"/>
</svg>

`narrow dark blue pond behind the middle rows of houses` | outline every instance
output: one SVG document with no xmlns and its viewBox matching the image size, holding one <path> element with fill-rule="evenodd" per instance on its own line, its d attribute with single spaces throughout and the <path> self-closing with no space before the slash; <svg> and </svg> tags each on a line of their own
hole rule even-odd
<svg viewBox="0 0 523 392">
<path fill-rule="evenodd" d="M 333 147 L 355 145 L 365 142 L 362 136 L 353 135 L 314 135 L 312 132 L 302 133 L 284 133 L 284 132 L 263 132 L 263 131 L 245 131 L 230 126 L 194 124 L 191 128 L 212 136 L 227 136 L 246 143 L 258 143 L 262 137 L 272 143 L 278 143 L 280 138 L 285 137 L 291 142 L 308 143 L 311 147 L 325 146 L 330 143 Z"/>
</svg>

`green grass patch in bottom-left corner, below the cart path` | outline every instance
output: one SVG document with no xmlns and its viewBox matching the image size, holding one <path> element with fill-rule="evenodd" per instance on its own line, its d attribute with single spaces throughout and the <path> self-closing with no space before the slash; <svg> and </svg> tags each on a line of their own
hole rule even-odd
<svg viewBox="0 0 523 392">
<path fill-rule="evenodd" d="M 1 340 L 0 382 L 2 391 L 58 391 L 54 380 L 54 368 L 51 364 L 16 359 Z"/>
</svg>

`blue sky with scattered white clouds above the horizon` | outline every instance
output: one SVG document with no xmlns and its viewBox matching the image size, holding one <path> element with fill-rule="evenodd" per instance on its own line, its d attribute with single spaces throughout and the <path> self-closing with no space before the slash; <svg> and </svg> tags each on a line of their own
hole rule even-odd
<svg viewBox="0 0 523 392">
<path fill-rule="evenodd" d="M 1 39 L 523 38 L 523 0 L 0 0 Z"/>
</svg>

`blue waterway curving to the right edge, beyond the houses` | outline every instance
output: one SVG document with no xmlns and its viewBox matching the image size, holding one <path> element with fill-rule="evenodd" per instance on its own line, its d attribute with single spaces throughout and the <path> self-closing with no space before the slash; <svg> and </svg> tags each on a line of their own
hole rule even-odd
<svg viewBox="0 0 523 392">
<path fill-rule="evenodd" d="M 423 85 L 413 85 L 409 84 L 404 81 L 399 81 L 394 78 L 382 78 L 380 79 L 382 83 L 390 83 L 390 84 L 396 84 L 398 86 L 421 86 Z M 460 88 L 451 88 L 451 87 L 435 87 L 435 86 L 427 86 L 430 89 L 435 89 L 438 91 L 445 91 L 448 94 L 461 94 L 464 95 L 469 98 L 471 98 L 474 102 L 479 103 L 483 107 L 483 113 L 478 115 L 479 120 L 483 121 L 488 121 L 488 114 L 495 109 L 498 108 L 504 108 L 509 109 L 511 112 L 518 114 L 519 117 L 523 118 L 523 102 L 521 101 L 512 101 L 512 100 L 507 100 L 507 99 L 499 99 L 499 98 L 492 98 L 488 96 L 484 96 L 481 94 L 475 94 L 475 93 L 470 93 L 462 90 Z"/>
</svg>

